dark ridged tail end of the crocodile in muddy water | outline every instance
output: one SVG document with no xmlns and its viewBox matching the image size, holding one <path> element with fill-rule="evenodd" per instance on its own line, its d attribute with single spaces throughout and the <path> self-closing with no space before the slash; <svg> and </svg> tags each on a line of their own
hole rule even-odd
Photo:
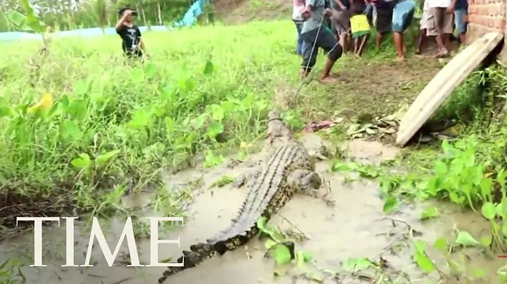
<svg viewBox="0 0 507 284">
<path fill-rule="evenodd" d="M 242 233 L 233 235 L 230 238 L 224 235 L 224 238 L 207 240 L 208 243 L 198 243 L 190 246 L 190 251 L 184 250 L 183 256 L 177 259 L 177 263 L 182 263 L 183 266 L 168 267 L 168 269 L 163 272 L 163 276 L 158 278 L 158 284 L 162 284 L 165 279 L 173 276 L 175 273 L 197 266 L 197 264 L 200 264 L 205 259 L 225 254 L 227 251 L 234 250 L 246 244 L 257 232 L 257 225 L 254 224 L 248 230 L 243 230 Z"/>
</svg>

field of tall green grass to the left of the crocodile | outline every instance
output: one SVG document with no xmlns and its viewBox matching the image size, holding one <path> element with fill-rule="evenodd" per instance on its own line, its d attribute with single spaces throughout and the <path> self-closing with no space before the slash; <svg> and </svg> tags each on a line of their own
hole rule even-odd
<svg viewBox="0 0 507 284">
<path fill-rule="evenodd" d="M 289 21 L 147 32 L 145 63 L 125 60 L 117 37 L 54 39 L 45 58 L 36 41 L 6 46 L 0 224 L 69 208 L 106 213 L 196 153 L 220 163 L 217 150 L 261 135 L 273 86 L 297 79 L 294 32 Z"/>
</svg>

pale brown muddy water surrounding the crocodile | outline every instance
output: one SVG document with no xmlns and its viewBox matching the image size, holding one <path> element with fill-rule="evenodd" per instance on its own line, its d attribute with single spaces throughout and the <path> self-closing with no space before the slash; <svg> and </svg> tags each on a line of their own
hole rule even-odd
<svg viewBox="0 0 507 284">
<path fill-rule="evenodd" d="M 356 141 L 357 142 L 357 141 Z M 358 157 L 369 162 L 380 162 L 382 158 L 391 158 L 392 149 L 377 151 L 380 147 L 375 143 L 368 144 L 361 141 L 360 153 L 365 153 L 370 147 L 370 153 L 376 153 L 375 157 Z M 352 145 L 352 144 L 349 144 Z M 357 143 L 355 144 L 358 145 Z M 354 156 L 353 147 L 349 148 L 349 154 Z M 375 150 L 377 149 L 377 150 Z M 382 155 L 382 153 L 388 153 Z M 357 153 L 356 153 L 357 154 Z M 253 156 L 248 164 L 239 164 L 233 169 L 221 166 L 206 171 L 180 172 L 175 176 L 169 176 L 168 181 L 173 184 L 184 184 L 196 177 L 201 176 L 204 181 L 200 194 L 196 195 L 194 204 L 189 208 L 189 218 L 183 228 L 177 228 L 168 233 L 166 237 L 177 238 L 180 235 L 182 247 L 177 245 L 160 245 L 159 259 L 173 259 L 180 256 L 182 249 L 187 250 L 189 245 L 204 241 L 206 238 L 218 233 L 230 223 L 245 196 L 245 189 L 234 189 L 230 186 L 223 188 L 208 188 L 220 179 L 224 174 L 234 176 L 241 172 L 248 172 L 251 165 L 256 164 L 261 156 Z M 308 240 L 296 244 L 297 250 L 307 250 L 315 258 L 315 268 L 339 271 L 340 262 L 349 258 L 369 257 L 377 260 L 382 257 L 389 265 L 388 271 L 396 273 L 403 271 L 408 273 L 411 283 L 429 283 L 439 279 L 437 273 L 425 276 L 421 273 L 411 259 L 412 250 L 407 247 L 407 240 L 403 239 L 408 232 L 408 225 L 416 231 L 423 232 L 419 238 L 429 243 L 442 236 L 451 238 L 453 225 L 467 230 L 475 237 L 487 235 L 489 224 L 470 212 L 459 212 L 457 208 L 439 205 L 442 216 L 438 219 L 421 223 L 418 220 L 420 212 L 425 205 L 407 205 L 398 213 L 390 216 L 392 221 L 384 219 L 382 212 L 383 202 L 378 197 L 377 183 L 365 180 L 350 181 L 350 174 L 337 175 L 329 171 L 330 162 L 318 163 L 318 172 L 325 179 L 331 194 L 328 198 L 334 200 L 334 207 L 327 206 L 320 199 L 306 195 L 296 195 L 284 208 L 280 210 L 270 221 L 270 224 L 278 224 L 281 228 L 296 228 L 301 231 Z M 323 189 L 323 194 L 325 193 Z M 146 205 L 149 195 L 132 195 L 125 200 L 125 204 L 142 207 Z M 111 250 L 118 241 L 125 220 L 114 221 L 111 230 L 104 232 L 107 235 Z M 402 223 L 401 221 L 405 222 Z M 407 225 L 408 224 L 408 225 Z M 395 225 L 395 226 L 394 226 Z M 92 264 L 94 267 L 61 267 L 65 257 L 65 232 L 61 228 L 44 228 L 44 268 L 25 267 L 27 283 L 156 283 L 163 268 L 129 268 L 129 258 L 125 257 L 125 245 L 120 250 L 119 257 L 113 267 L 108 267 L 104 256 L 99 250 L 94 250 Z M 76 229 L 76 231 L 78 231 Z M 84 264 L 84 253 L 87 250 L 89 235 L 87 232 L 75 236 L 75 263 Z M 161 234 L 163 238 L 163 234 Z M 399 242 L 396 242 L 399 240 Z M 403 243 L 404 242 L 404 243 Z M 97 243 L 94 243 L 94 248 Z M 138 241 L 139 259 L 142 263 L 149 263 L 149 241 Z M 395 246 L 396 245 L 396 246 Z M 20 236 L 15 240 L 5 241 L 0 246 L 0 262 L 8 257 L 28 257 L 32 254 L 33 238 L 31 234 Z M 395 250 L 396 248 L 396 250 Z M 391 252 L 392 250 L 396 252 Z M 499 283 L 495 272 L 503 262 L 484 259 L 481 254 L 474 251 L 465 252 L 469 260 L 466 262 L 469 269 L 482 268 L 487 270 L 487 280 L 476 280 L 472 283 Z M 178 273 L 166 283 L 274 283 L 273 271 L 275 265 L 270 259 L 264 259 L 265 249 L 263 243 L 254 239 L 234 252 L 228 252 L 223 257 L 210 259 L 198 268 L 189 269 Z M 442 260 L 439 254 L 430 251 L 432 258 Z M 119 263 L 126 259 L 127 263 Z M 173 260 L 174 261 L 174 260 Z M 32 261 L 29 261 L 32 262 Z M 96 262 L 96 263 L 94 263 Z M 439 269 L 446 271 L 444 264 Z M 280 269 L 278 269 L 280 270 Z M 315 269 L 314 269 L 315 270 Z M 363 283 L 358 277 L 342 273 L 340 281 L 330 277 L 330 273 L 315 271 L 315 275 L 324 278 L 324 283 Z M 376 276 L 375 276 L 376 277 Z M 397 283 L 408 283 L 408 280 L 398 279 Z M 277 283 L 311 283 L 301 277 L 301 271 L 289 270 L 289 276 L 284 276 Z M 371 281 L 370 281 L 371 282 Z M 465 283 L 464 280 L 447 280 L 441 283 Z"/>
</svg>

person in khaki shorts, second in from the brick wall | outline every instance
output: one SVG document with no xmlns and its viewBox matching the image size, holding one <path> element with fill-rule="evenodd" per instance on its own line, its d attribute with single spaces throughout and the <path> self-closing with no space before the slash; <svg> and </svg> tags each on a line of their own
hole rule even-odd
<svg viewBox="0 0 507 284">
<path fill-rule="evenodd" d="M 454 31 L 454 13 L 451 0 L 426 0 L 430 8 L 428 15 L 427 35 L 434 36 L 438 45 L 437 58 L 449 57 L 447 44 Z"/>
</svg>

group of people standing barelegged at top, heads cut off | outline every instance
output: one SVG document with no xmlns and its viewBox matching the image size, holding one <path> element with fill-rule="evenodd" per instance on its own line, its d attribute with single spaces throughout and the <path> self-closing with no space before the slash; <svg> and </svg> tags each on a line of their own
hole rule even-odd
<svg viewBox="0 0 507 284">
<path fill-rule="evenodd" d="M 311 72 L 318 48 L 327 54 L 322 82 L 330 82 L 332 66 L 353 41 L 353 54 L 360 57 L 375 27 L 375 44 L 380 46 L 384 35 L 393 33 L 397 60 L 403 61 L 406 46 L 403 32 L 413 20 L 414 0 L 293 0 L 292 20 L 298 32 L 296 52 L 303 57 L 301 76 Z M 465 40 L 467 0 L 421 0 L 423 16 L 416 53 L 420 53 L 426 36 L 435 36 L 438 58 L 449 56 L 447 43 L 454 26 L 462 42 Z"/>
</svg>

